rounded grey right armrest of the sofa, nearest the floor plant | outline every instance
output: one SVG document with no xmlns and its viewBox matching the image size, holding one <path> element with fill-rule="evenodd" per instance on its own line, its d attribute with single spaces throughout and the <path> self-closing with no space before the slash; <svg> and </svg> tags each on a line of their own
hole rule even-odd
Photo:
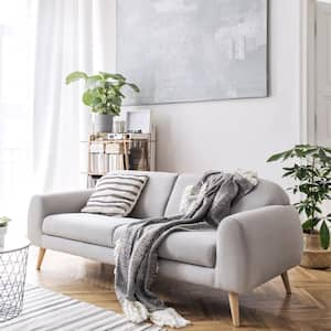
<svg viewBox="0 0 331 331">
<path fill-rule="evenodd" d="M 302 233 L 293 206 L 233 214 L 217 228 L 215 287 L 244 293 L 300 263 Z"/>
</svg>

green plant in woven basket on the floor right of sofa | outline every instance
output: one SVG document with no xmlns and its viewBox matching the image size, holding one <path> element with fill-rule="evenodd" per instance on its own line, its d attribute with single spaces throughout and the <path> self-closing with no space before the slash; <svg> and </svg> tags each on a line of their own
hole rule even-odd
<svg viewBox="0 0 331 331">
<path fill-rule="evenodd" d="M 305 249 L 301 266 L 323 269 L 331 266 L 330 231 L 331 213 L 323 213 L 322 204 L 331 200 L 331 149 L 299 145 L 271 156 L 271 161 L 292 160 L 291 167 L 284 167 L 284 177 L 295 180 L 289 188 L 293 194 L 300 194 L 296 203 L 302 224 Z"/>
</svg>

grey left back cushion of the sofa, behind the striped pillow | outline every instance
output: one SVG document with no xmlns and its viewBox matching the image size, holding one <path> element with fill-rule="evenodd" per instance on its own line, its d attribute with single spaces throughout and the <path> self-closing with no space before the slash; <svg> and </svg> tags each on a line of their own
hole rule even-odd
<svg viewBox="0 0 331 331">
<path fill-rule="evenodd" d="M 130 213 L 130 217 L 146 218 L 163 215 L 178 173 L 153 171 L 121 171 L 119 173 L 148 177 L 148 182 Z"/>
</svg>

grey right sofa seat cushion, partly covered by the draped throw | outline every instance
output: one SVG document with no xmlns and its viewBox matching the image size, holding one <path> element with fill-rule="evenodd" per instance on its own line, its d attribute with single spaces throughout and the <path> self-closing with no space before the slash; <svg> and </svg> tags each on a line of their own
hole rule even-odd
<svg viewBox="0 0 331 331">
<path fill-rule="evenodd" d="M 114 231 L 113 243 L 120 237 L 125 226 Z M 216 231 L 175 232 L 159 248 L 159 256 L 174 261 L 213 268 L 216 259 Z"/>
</svg>

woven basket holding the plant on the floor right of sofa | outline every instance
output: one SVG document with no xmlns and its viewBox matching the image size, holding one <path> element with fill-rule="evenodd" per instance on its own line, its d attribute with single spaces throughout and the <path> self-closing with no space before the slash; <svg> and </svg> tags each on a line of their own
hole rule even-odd
<svg viewBox="0 0 331 331">
<path fill-rule="evenodd" d="M 323 249 L 319 234 L 303 234 L 303 254 L 300 265 L 311 269 L 328 269 L 331 266 L 331 249 Z"/>
</svg>

